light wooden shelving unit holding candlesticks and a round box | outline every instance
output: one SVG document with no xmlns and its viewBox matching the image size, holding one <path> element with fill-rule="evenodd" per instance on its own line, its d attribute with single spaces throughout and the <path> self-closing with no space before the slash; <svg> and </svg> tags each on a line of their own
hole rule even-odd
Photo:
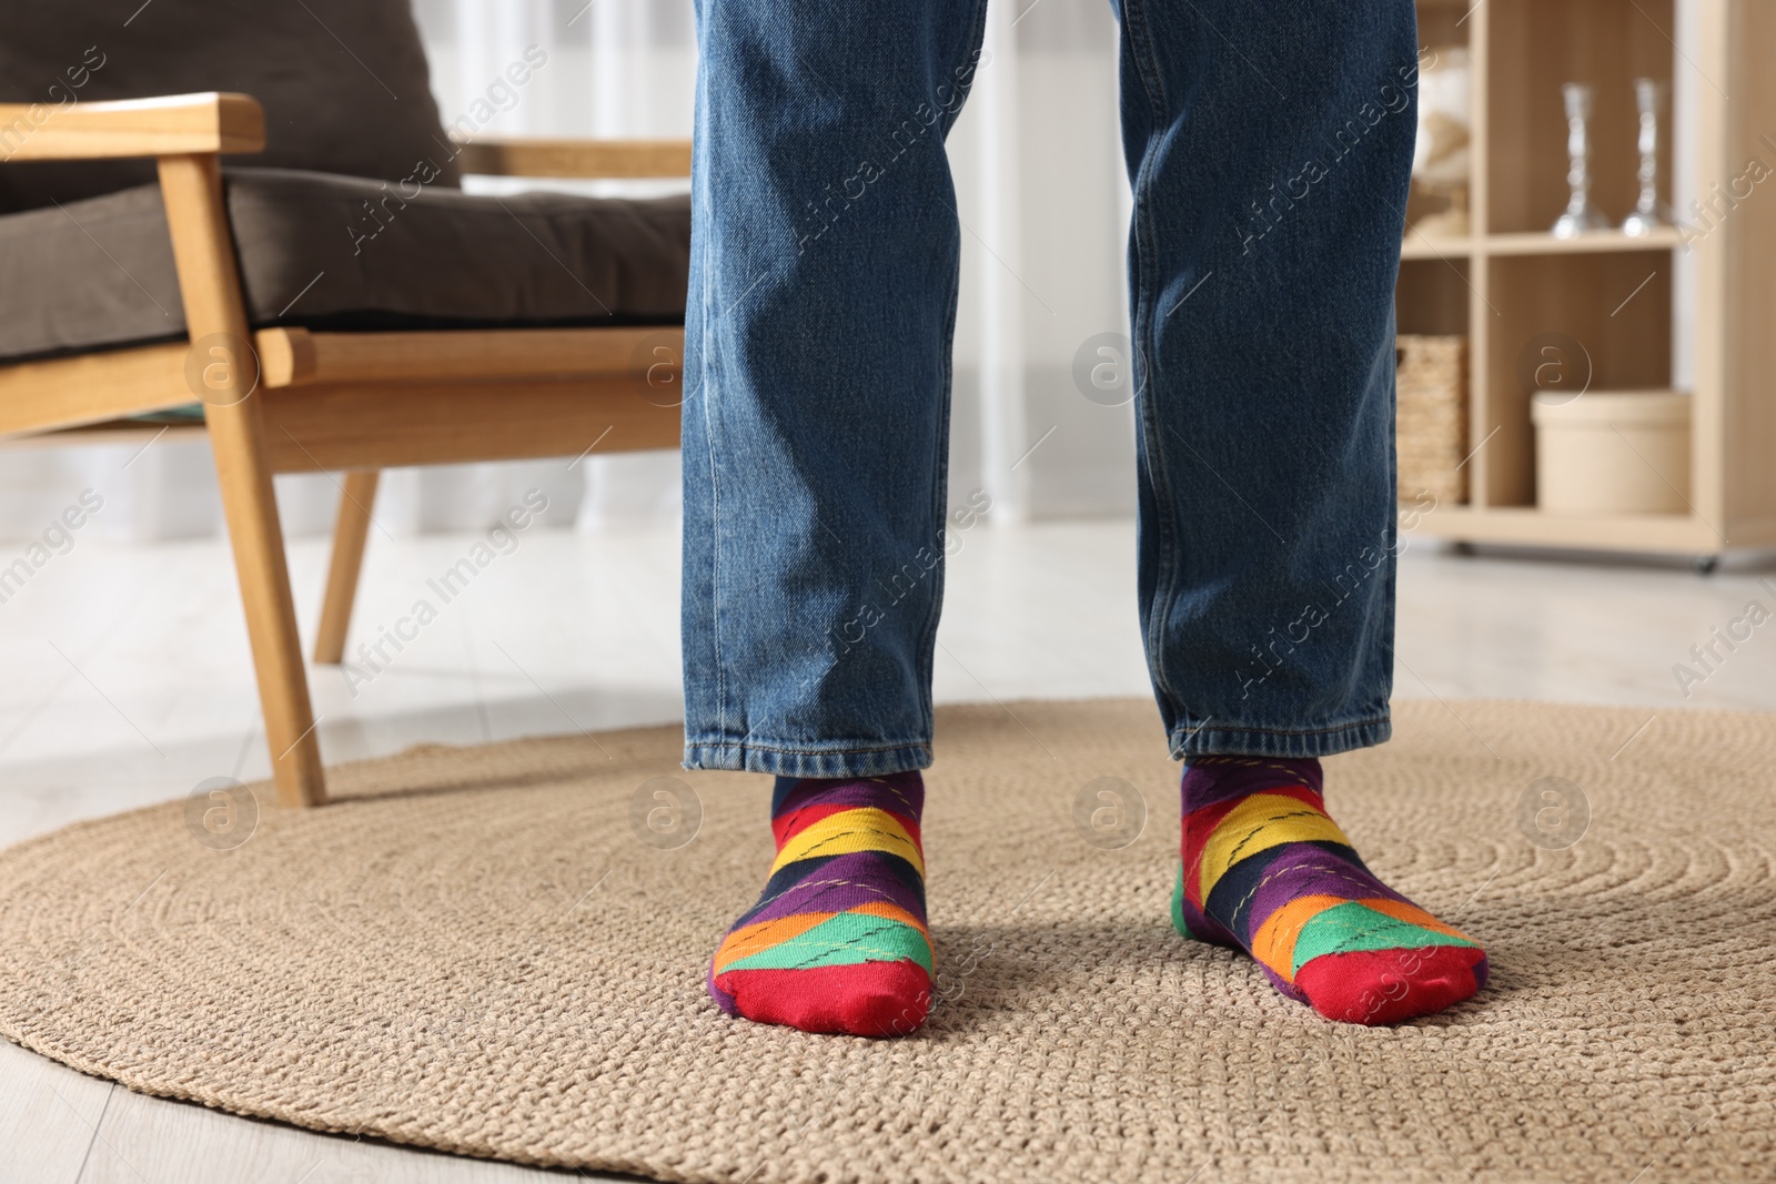
<svg viewBox="0 0 1776 1184">
<path fill-rule="evenodd" d="M 1419 27 L 1424 46 L 1469 48 L 1474 233 L 1431 240 L 1408 229 L 1398 320 L 1403 334 L 1469 335 L 1476 451 L 1469 501 L 1403 525 L 1455 541 L 1696 557 L 1776 547 L 1776 176 L 1689 245 L 1677 231 L 1549 234 L 1566 204 L 1565 82 L 1597 89 L 1593 199 L 1613 222 L 1637 193 L 1639 76 L 1682 83 L 1678 126 L 1664 135 L 1666 186 L 1680 160 L 1684 192 L 1705 201 L 1751 160 L 1776 170 L 1776 2 L 1419 0 Z M 1673 153 L 1677 140 L 1685 144 Z M 1694 222 L 1685 209 L 1678 217 Z M 1693 311 L 1687 330 L 1673 321 L 1680 296 Z M 1687 355 L 1689 513 L 1536 508 L 1533 391 L 1520 359 L 1550 334 L 1582 346 L 1597 391 L 1671 387 L 1673 362 Z"/>
</svg>

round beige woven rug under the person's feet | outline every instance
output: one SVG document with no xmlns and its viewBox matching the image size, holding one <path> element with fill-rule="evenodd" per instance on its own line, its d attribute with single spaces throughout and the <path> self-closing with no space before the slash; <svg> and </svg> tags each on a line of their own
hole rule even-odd
<svg viewBox="0 0 1776 1184">
<path fill-rule="evenodd" d="M 130 1088 L 668 1180 L 1769 1180 L 1776 719 L 1405 703 L 1328 762 L 1369 864 L 1492 983 L 1332 1024 L 1167 916 L 1151 703 L 938 714 L 936 1008 L 721 1015 L 769 779 L 675 728 L 421 747 L 0 854 L 0 1031 Z M 258 817 L 252 817 L 252 815 Z"/>
</svg>

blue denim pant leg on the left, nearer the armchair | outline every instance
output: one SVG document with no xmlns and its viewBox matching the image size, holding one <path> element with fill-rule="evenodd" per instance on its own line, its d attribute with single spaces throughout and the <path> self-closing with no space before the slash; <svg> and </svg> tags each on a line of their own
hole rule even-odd
<svg viewBox="0 0 1776 1184">
<path fill-rule="evenodd" d="M 959 229 L 984 0 L 700 0 L 686 767 L 931 763 Z"/>
</svg>

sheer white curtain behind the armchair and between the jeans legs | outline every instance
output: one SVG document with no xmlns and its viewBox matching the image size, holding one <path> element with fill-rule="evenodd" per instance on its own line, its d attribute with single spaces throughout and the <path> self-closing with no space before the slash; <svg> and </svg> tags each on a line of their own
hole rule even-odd
<svg viewBox="0 0 1776 1184">
<path fill-rule="evenodd" d="M 416 12 L 446 124 L 469 115 L 480 135 L 691 133 L 689 0 L 416 0 Z M 506 67 L 533 46 L 547 62 L 511 85 Z M 950 140 L 964 225 L 950 497 L 964 504 L 986 490 L 998 522 L 1131 513 L 1131 412 L 1083 398 L 1073 378 L 1087 339 L 1126 332 L 1130 199 L 1108 0 L 995 0 L 987 53 Z M 0 538 L 39 534 L 85 486 L 105 490 L 94 525 L 112 538 L 220 529 L 201 440 L 162 440 L 140 456 L 133 446 L 0 454 Z M 662 524 L 678 513 L 678 458 L 593 453 L 572 469 L 551 460 L 396 470 L 377 518 L 391 534 L 478 529 L 531 486 L 549 493 L 558 524 Z M 337 486 L 327 476 L 279 478 L 279 501 L 291 536 L 323 533 Z"/>
</svg>

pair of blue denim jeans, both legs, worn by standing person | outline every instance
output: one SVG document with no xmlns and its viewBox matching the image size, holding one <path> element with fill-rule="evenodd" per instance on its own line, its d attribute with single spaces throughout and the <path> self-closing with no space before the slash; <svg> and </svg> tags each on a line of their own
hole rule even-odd
<svg viewBox="0 0 1776 1184">
<path fill-rule="evenodd" d="M 998 0 L 996 0 L 998 2 Z M 1389 735 L 1412 0 L 1121 0 L 1140 623 L 1172 754 Z M 686 765 L 931 763 L 984 0 L 700 0 Z"/>
</svg>

